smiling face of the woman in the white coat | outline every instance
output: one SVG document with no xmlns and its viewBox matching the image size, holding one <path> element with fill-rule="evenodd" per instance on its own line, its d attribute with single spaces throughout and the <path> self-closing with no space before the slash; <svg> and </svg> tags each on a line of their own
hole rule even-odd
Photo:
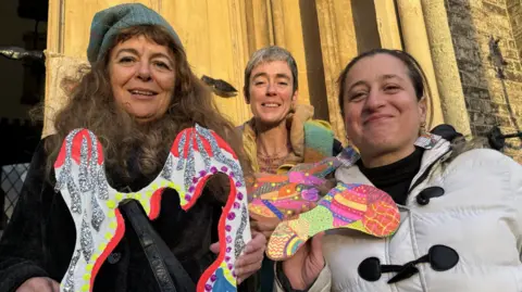
<svg viewBox="0 0 522 292">
<path fill-rule="evenodd" d="M 363 58 L 348 72 L 343 110 L 347 135 L 363 156 L 408 155 L 426 117 L 408 67 L 386 53 Z"/>
</svg>

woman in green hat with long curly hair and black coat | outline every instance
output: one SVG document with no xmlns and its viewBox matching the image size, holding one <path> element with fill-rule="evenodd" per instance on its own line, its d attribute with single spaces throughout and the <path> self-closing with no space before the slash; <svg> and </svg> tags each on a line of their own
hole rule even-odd
<svg viewBox="0 0 522 292">
<path fill-rule="evenodd" d="M 62 141 L 74 129 L 98 137 L 107 180 L 120 192 L 139 191 L 158 177 L 176 136 L 195 124 L 222 137 L 245 175 L 250 173 L 233 125 L 220 115 L 191 72 L 178 36 L 158 13 L 142 4 L 98 12 L 87 55 L 90 71 L 57 114 L 57 132 L 38 145 L 1 239 L 0 291 L 58 291 L 74 258 L 75 224 L 54 191 L 53 169 Z M 227 182 L 221 178 L 209 180 L 187 212 L 172 189 L 163 192 L 153 221 L 142 220 L 140 212 L 122 211 L 125 232 L 101 265 L 92 291 L 191 291 L 216 258 L 217 224 L 227 200 Z M 139 231 L 136 218 L 141 219 Z M 264 236 L 252 232 L 234 263 L 238 282 L 260 268 L 265 243 Z"/>
</svg>

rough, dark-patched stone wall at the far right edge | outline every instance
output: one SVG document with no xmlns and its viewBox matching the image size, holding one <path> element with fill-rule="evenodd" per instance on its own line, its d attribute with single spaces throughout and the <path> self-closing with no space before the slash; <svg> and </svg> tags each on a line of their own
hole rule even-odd
<svg viewBox="0 0 522 292">
<path fill-rule="evenodd" d="M 471 131 L 522 127 L 522 1 L 447 0 L 446 9 Z M 522 162 L 521 139 L 506 152 Z"/>
</svg>

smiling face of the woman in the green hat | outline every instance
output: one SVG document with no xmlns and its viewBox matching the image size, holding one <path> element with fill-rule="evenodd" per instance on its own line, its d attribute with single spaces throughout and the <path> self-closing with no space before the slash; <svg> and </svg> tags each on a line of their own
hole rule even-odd
<svg viewBox="0 0 522 292">
<path fill-rule="evenodd" d="M 174 93 L 174 66 L 170 49 L 144 36 L 116 45 L 109 60 L 115 101 L 139 122 L 160 118 Z"/>
</svg>

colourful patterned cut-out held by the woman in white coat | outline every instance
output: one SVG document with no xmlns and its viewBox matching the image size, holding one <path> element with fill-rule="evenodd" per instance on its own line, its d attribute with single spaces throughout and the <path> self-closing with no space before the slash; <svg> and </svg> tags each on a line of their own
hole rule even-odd
<svg viewBox="0 0 522 292">
<path fill-rule="evenodd" d="M 268 256 L 274 261 L 290 257 L 314 234 L 336 228 L 388 237 L 399 223 L 398 207 L 389 194 L 372 186 L 338 183 L 316 207 L 277 226 Z"/>
</svg>

